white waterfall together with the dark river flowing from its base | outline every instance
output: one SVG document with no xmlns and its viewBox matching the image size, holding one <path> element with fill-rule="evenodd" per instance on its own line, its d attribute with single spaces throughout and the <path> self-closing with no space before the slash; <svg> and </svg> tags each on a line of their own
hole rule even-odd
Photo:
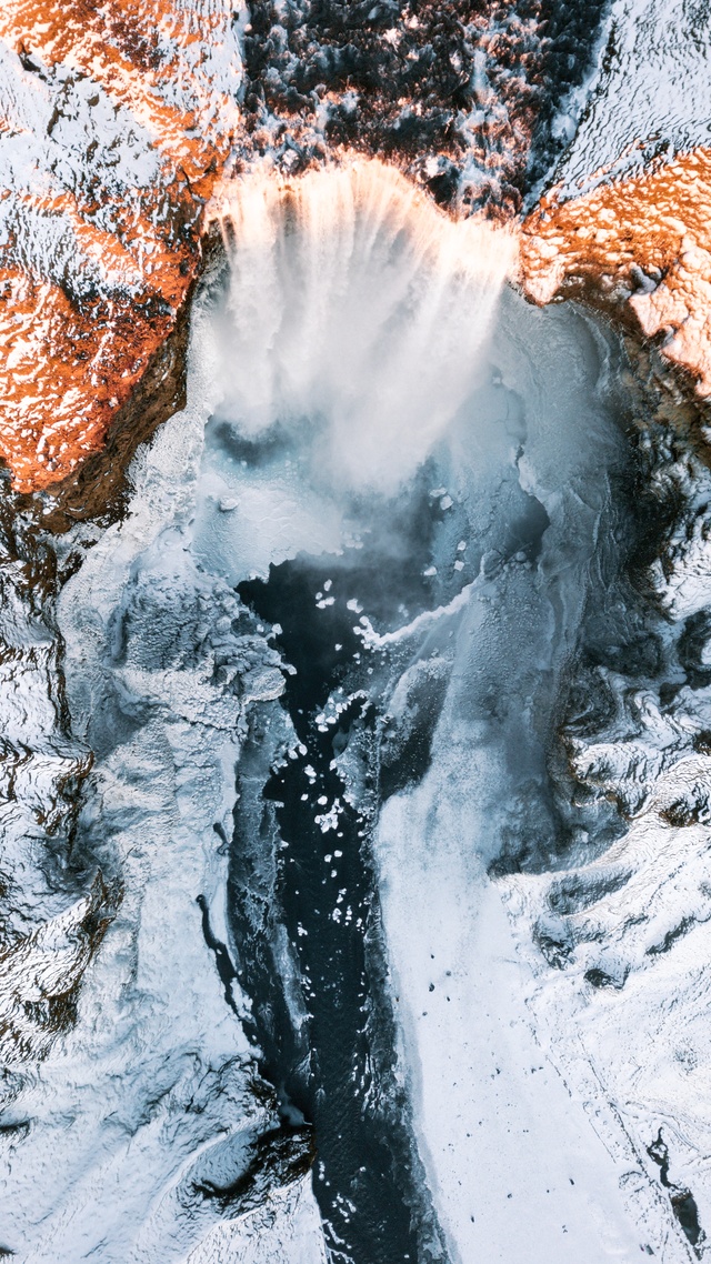
<svg viewBox="0 0 711 1264">
<path fill-rule="evenodd" d="M 376 163 L 292 188 L 238 186 L 221 222 L 221 398 L 195 550 L 211 565 L 219 556 L 243 599 L 281 627 L 276 643 L 296 672 L 283 696 L 291 758 L 280 770 L 283 722 L 266 731 L 258 719 L 238 770 L 234 940 L 268 1073 L 315 1124 L 334 1258 L 439 1259 L 393 1063 L 369 809 L 347 801 L 333 743 L 338 733 L 345 748 L 362 729 L 377 762 L 373 667 L 352 607 L 359 588 L 371 607 L 381 588 L 391 626 L 431 602 L 424 573 L 447 525 L 423 466 L 476 388 L 512 245 L 452 224 Z M 426 474 L 436 482 L 434 465 Z M 297 551 L 310 566 L 285 562 Z M 269 564 L 264 592 L 239 584 L 266 580 Z M 453 592 L 472 565 L 459 562 Z M 334 715 L 318 723 L 331 690 Z M 266 872 L 269 851 L 280 862 Z"/>
</svg>

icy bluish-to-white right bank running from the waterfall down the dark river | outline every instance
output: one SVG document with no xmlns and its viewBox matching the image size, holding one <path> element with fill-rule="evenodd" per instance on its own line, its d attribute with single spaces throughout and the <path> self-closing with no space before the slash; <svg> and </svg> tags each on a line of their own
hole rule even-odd
<svg viewBox="0 0 711 1264">
<path fill-rule="evenodd" d="M 504 305 L 491 354 L 510 392 L 509 415 L 512 399 L 520 407 L 521 483 L 549 525 L 533 569 L 521 556 L 485 560 L 466 605 L 442 612 L 429 645 L 411 635 L 414 662 L 454 643 L 452 678 L 430 771 L 388 800 L 377 832 L 417 1138 L 452 1258 L 463 1261 L 593 1264 L 633 1260 L 648 1249 L 668 1260 L 688 1258 L 645 1150 L 655 1136 L 652 1120 L 648 1131 L 635 1130 L 625 1098 L 609 1091 L 592 1020 L 588 1073 L 568 1073 L 574 1024 L 562 1036 L 562 1009 L 539 1004 L 539 988 L 562 976 L 548 963 L 541 969 L 533 919 L 520 919 L 510 891 L 533 887 L 544 899 L 550 875 L 545 882 L 487 876 L 507 849 L 512 870 L 558 868 L 563 860 L 555 847 L 547 860 L 550 833 L 560 828 L 547 817 L 547 756 L 581 622 L 597 599 L 596 584 L 605 583 L 596 550 L 610 538 L 611 492 L 601 466 L 614 469 L 616 459 L 614 423 L 605 436 L 596 393 L 605 355 L 596 367 L 595 344 L 586 346 L 576 320 L 519 311 L 509 296 Z M 496 416 L 491 403 L 487 415 Z M 477 460 L 474 417 L 472 410 L 449 483 L 454 503 L 471 516 L 472 542 L 496 533 L 497 514 L 498 532 L 506 521 L 496 466 L 485 473 Z M 501 470 L 504 451 L 497 455 Z M 402 693 L 400 684 L 396 714 Z M 597 854 L 592 839 L 574 848 L 581 865 L 586 851 L 591 860 Z M 582 973 L 579 1006 L 593 992 Z M 653 1015 L 650 1009 L 648 1021 Z M 614 1062 L 616 1047 L 603 1048 Z M 621 1034 L 619 1048 L 626 1048 Z"/>
</svg>

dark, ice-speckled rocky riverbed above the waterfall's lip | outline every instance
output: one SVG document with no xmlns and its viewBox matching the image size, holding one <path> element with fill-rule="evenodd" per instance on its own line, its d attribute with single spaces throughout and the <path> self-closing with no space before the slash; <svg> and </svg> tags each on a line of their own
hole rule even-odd
<svg viewBox="0 0 711 1264">
<path fill-rule="evenodd" d="M 245 28 L 244 154 L 287 172 L 342 147 L 382 155 L 438 202 L 516 214 L 563 144 L 560 101 L 603 10 L 557 0 L 256 0 Z"/>
</svg>

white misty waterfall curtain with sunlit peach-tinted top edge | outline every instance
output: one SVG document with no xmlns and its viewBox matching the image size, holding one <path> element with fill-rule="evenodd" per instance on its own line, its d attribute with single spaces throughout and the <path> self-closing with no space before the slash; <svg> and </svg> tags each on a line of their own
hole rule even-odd
<svg viewBox="0 0 711 1264">
<path fill-rule="evenodd" d="M 515 239 L 452 221 L 374 161 L 237 181 L 215 217 L 221 411 L 245 437 L 310 431 L 331 485 L 392 493 L 472 389 Z"/>
</svg>

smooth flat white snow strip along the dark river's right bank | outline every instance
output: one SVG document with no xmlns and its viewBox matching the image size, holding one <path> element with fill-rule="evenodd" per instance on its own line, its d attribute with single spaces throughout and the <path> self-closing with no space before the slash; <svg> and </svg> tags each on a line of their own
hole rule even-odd
<svg viewBox="0 0 711 1264">
<path fill-rule="evenodd" d="M 468 782 L 491 777 L 486 755 L 468 760 Z M 646 1232 L 620 1183 L 648 1182 L 620 1143 L 610 1154 L 593 1103 L 571 1096 L 536 1040 L 531 977 L 472 837 L 476 805 L 440 776 L 388 804 L 378 851 L 417 1140 L 450 1258 L 636 1260 Z"/>
</svg>

